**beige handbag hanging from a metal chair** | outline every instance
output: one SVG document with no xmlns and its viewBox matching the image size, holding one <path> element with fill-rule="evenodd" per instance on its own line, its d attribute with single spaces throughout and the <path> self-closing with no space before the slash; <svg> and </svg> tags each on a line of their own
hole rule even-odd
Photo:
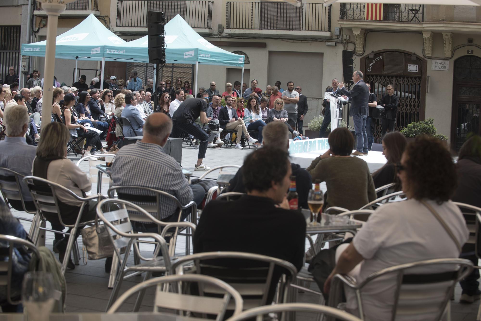
<svg viewBox="0 0 481 321">
<path fill-rule="evenodd" d="M 94 226 L 82 229 L 82 251 L 87 251 L 89 259 L 104 259 L 114 255 L 114 244 L 105 224 L 99 225 L 99 220 Z M 87 263 L 85 263 L 87 264 Z"/>
</svg>

